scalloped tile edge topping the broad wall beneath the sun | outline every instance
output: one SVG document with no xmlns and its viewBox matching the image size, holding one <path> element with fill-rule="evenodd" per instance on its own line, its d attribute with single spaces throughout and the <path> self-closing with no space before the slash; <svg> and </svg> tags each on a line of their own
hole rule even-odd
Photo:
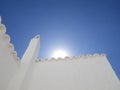
<svg viewBox="0 0 120 90">
<path fill-rule="evenodd" d="M 96 58 L 96 57 L 106 57 L 106 54 L 102 53 L 102 54 L 87 54 L 87 55 L 80 55 L 80 56 L 66 56 L 64 58 L 41 58 L 41 59 L 37 59 L 36 62 L 45 62 L 45 61 L 59 61 L 59 60 L 68 60 L 68 59 L 87 59 L 87 58 Z"/>
</svg>

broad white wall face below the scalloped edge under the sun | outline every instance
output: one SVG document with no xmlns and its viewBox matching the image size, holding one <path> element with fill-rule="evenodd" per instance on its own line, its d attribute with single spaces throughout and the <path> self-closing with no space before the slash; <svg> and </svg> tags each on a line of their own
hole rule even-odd
<svg viewBox="0 0 120 90">
<path fill-rule="evenodd" d="M 34 62 L 20 90 L 120 90 L 105 56 Z"/>
</svg>

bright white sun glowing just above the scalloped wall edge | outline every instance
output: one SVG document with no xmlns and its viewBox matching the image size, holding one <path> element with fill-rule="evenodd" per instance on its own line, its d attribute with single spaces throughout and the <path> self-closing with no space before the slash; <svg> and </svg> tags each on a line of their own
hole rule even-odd
<svg viewBox="0 0 120 90">
<path fill-rule="evenodd" d="M 56 50 L 52 54 L 52 57 L 54 58 L 64 58 L 65 56 L 68 56 L 68 53 L 65 50 Z"/>
</svg>

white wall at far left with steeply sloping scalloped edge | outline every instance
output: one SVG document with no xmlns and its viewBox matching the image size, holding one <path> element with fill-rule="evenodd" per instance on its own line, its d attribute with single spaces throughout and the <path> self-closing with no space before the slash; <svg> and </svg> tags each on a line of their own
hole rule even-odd
<svg viewBox="0 0 120 90">
<path fill-rule="evenodd" d="M 0 90 L 6 90 L 20 63 L 10 38 L 5 34 L 6 28 L 0 24 Z"/>
</svg>

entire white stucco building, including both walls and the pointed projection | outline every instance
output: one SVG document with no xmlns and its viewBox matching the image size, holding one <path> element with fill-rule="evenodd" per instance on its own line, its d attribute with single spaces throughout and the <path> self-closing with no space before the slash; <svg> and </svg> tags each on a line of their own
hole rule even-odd
<svg viewBox="0 0 120 90">
<path fill-rule="evenodd" d="M 37 35 L 20 60 L 5 32 L 0 23 L 0 90 L 120 90 L 106 55 L 38 59 Z"/>
</svg>

